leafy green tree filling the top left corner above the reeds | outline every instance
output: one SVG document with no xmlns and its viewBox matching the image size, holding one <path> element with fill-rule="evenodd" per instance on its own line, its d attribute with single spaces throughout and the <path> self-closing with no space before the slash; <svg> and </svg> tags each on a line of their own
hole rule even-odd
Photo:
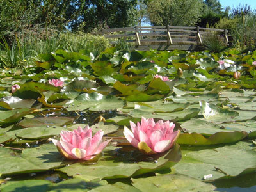
<svg viewBox="0 0 256 192">
<path fill-rule="evenodd" d="M 65 29 L 76 15 L 75 3 L 76 0 L 1 0 L 0 36 L 12 42 L 17 33 L 26 30 Z"/>
</svg>

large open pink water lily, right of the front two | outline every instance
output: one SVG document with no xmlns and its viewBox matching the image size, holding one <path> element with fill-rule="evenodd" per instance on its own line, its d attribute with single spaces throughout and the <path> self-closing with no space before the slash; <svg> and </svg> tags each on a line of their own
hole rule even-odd
<svg viewBox="0 0 256 192">
<path fill-rule="evenodd" d="M 156 154 L 169 150 L 173 147 L 180 131 L 173 131 L 175 124 L 159 120 L 154 122 L 153 118 L 141 118 L 140 122 L 134 124 L 130 121 L 131 129 L 124 127 L 125 138 L 146 154 Z"/>
</svg>

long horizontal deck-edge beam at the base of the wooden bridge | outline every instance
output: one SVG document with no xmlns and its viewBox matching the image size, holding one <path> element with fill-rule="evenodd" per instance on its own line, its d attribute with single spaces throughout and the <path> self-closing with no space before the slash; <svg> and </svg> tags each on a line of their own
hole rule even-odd
<svg viewBox="0 0 256 192">
<path fill-rule="evenodd" d="M 150 49 L 157 49 L 157 50 L 179 49 L 179 50 L 185 50 L 185 51 L 193 51 L 197 49 L 198 46 L 197 45 L 140 45 L 132 48 L 136 50 L 141 50 L 141 51 L 148 51 Z"/>
</svg>

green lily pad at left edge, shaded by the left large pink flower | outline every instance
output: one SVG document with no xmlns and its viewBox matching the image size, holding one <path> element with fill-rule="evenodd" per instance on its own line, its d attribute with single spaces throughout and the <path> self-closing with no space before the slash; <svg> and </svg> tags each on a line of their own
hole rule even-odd
<svg viewBox="0 0 256 192">
<path fill-rule="evenodd" d="M 0 147 L 0 174 L 14 175 L 19 173 L 35 173 L 65 166 L 63 157 L 53 144 L 28 148 L 21 154 Z"/>
</svg>

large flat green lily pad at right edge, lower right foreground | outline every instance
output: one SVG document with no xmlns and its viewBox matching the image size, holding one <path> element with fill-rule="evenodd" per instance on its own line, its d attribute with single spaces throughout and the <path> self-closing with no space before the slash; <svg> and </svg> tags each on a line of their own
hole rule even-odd
<svg viewBox="0 0 256 192">
<path fill-rule="evenodd" d="M 246 149 L 239 148 L 241 144 L 246 145 Z M 215 180 L 234 177 L 249 169 L 253 172 L 256 169 L 255 157 L 253 147 L 241 141 L 218 148 L 183 147 L 182 160 L 172 170 L 199 180 L 204 180 L 204 175 L 212 174 L 207 180 Z"/>
</svg>

